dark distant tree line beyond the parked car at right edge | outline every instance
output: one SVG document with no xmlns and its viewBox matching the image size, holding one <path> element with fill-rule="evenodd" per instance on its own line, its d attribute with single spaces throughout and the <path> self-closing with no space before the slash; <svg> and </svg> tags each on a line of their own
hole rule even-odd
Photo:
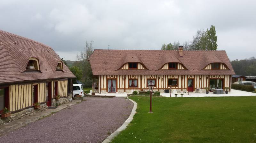
<svg viewBox="0 0 256 143">
<path fill-rule="evenodd" d="M 256 59 L 251 57 L 244 60 L 234 60 L 231 61 L 231 65 L 236 73 L 236 75 L 243 76 L 256 76 Z"/>
</svg>

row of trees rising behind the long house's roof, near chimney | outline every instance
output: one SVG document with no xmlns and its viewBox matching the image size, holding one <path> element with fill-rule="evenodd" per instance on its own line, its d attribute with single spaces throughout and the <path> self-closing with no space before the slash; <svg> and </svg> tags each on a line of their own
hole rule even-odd
<svg viewBox="0 0 256 143">
<path fill-rule="evenodd" d="M 217 36 L 215 26 L 211 25 L 210 29 L 204 31 L 202 29 L 198 29 L 196 35 L 193 36 L 192 41 L 185 41 L 183 45 L 183 50 L 217 50 Z M 162 44 L 162 50 L 178 50 L 180 46 L 180 42 L 174 41 L 173 43 Z"/>
</svg>

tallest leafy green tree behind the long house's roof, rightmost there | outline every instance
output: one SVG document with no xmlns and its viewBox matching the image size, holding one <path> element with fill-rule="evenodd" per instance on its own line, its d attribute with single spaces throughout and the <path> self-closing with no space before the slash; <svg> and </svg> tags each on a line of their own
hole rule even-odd
<svg viewBox="0 0 256 143">
<path fill-rule="evenodd" d="M 205 32 L 206 37 L 206 43 L 207 43 L 207 50 L 217 50 L 218 44 L 217 44 L 217 36 L 215 31 L 215 26 L 211 25 L 210 30 L 206 30 Z"/>
</svg>

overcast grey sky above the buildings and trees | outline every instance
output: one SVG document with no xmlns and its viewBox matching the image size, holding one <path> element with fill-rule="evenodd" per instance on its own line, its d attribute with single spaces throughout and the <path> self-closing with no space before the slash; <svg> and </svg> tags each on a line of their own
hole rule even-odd
<svg viewBox="0 0 256 143">
<path fill-rule="evenodd" d="M 231 60 L 256 57 L 255 0 L 0 0 L 0 29 L 51 46 L 76 60 L 94 49 L 161 49 L 215 25 L 218 50 Z"/>
</svg>

